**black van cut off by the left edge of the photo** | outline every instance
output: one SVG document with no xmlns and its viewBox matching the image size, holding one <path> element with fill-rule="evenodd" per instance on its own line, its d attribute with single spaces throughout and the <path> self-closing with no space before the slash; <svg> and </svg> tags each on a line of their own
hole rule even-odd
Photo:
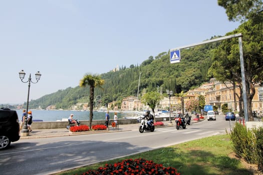
<svg viewBox="0 0 263 175">
<path fill-rule="evenodd" d="M 0 150 L 8 148 L 10 143 L 20 138 L 18 114 L 10 108 L 0 108 Z"/>
</svg>

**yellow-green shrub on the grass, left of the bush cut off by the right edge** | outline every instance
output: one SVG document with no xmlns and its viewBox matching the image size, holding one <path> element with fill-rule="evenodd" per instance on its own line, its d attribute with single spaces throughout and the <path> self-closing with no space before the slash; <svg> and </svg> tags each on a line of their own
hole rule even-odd
<svg viewBox="0 0 263 175">
<path fill-rule="evenodd" d="M 245 159 L 248 163 L 256 162 L 255 136 L 246 126 L 236 122 L 230 133 L 233 142 L 233 150 L 238 157 Z"/>
</svg>

